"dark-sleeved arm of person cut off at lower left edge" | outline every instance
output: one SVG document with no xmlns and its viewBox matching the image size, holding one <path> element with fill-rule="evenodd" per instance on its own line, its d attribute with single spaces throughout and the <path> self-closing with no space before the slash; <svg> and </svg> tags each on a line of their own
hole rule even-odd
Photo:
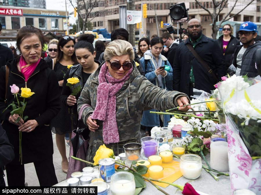
<svg viewBox="0 0 261 195">
<path fill-rule="evenodd" d="M 14 159 L 14 147 L 10 144 L 5 130 L 0 124 L 0 186 L 6 186 L 3 167 Z"/>
</svg>

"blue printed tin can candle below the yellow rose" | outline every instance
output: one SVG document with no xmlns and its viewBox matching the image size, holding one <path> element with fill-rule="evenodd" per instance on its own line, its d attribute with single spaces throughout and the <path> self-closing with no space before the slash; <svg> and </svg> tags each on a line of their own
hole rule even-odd
<svg viewBox="0 0 261 195">
<path fill-rule="evenodd" d="M 100 176 L 105 182 L 110 182 L 111 176 L 115 173 L 115 160 L 113 158 L 103 158 L 99 160 Z"/>
</svg>

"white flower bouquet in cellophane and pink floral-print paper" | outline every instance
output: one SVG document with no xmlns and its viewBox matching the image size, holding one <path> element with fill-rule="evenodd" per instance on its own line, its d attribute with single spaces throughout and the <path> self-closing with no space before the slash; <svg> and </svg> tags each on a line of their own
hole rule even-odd
<svg viewBox="0 0 261 195">
<path fill-rule="evenodd" d="M 232 192 L 261 193 L 261 82 L 231 76 L 218 84 L 226 115 Z"/>
</svg>

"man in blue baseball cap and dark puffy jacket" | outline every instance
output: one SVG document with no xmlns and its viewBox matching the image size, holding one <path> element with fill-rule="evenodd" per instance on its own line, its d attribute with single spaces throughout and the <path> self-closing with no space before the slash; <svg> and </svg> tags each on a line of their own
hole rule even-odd
<svg viewBox="0 0 261 195">
<path fill-rule="evenodd" d="M 242 23 L 237 31 L 242 43 L 242 45 L 237 46 L 233 59 L 233 65 L 236 68 L 235 74 L 237 76 L 245 74 L 247 74 L 248 77 L 258 76 L 255 54 L 256 50 L 261 48 L 261 41 L 254 40 L 257 36 L 256 30 L 257 25 L 248 21 Z"/>
</svg>

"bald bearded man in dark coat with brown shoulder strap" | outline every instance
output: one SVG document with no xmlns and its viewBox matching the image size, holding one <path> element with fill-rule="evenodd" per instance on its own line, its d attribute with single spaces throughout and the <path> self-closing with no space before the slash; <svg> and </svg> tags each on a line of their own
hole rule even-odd
<svg viewBox="0 0 261 195">
<path fill-rule="evenodd" d="M 176 49 L 173 62 L 173 90 L 183 92 L 190 97 L 193 96 L 193 88 L 208 93 L 214 90 L 214 84 L 226 74 L 226 67 L 218 41 L 202 34 L 202 25 L 199 20 L 191 19 L 187 30 L 189 39 L 182 41 Z M 193 47 L 218 80 L 196 59 L 187 45 Z"/>
</svg>

